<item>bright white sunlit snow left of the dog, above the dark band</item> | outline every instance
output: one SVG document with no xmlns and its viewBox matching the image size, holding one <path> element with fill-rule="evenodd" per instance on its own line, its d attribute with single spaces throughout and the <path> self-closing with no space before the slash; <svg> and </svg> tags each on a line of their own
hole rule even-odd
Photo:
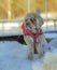
<svg viewBox="0 0 57 70">
<path fill-rule="evenodd" d="M 22 24 L 18 23 L 0 23 L 0 37 L 22 34 L 23 31 L 20 25 Z"/>
</svg>

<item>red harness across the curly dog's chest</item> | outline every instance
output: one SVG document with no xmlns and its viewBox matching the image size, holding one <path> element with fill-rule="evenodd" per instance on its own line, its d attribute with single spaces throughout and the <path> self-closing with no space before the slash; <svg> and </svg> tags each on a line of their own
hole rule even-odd
<svg viewBox="0 0 57 70">
<path fill-rule="evenodd" d="M 42 29 L 39 29 L 38 32 L 33 33 L 32 31 L 30 31 L 29 29 L 27 29 L 24 24 L 22 25 L 22 29 L 23 29 L 23 32 L 24 32 L 25 36 L 31 36 L 33 38 L 33 43 L 34 44 L 38 42 L 37 41 L 38 36 L 43 34 Z"/>
</svg>

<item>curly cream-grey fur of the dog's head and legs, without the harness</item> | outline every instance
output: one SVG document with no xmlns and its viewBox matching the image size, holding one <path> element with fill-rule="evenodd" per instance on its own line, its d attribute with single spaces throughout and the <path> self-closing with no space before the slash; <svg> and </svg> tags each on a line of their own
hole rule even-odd
<svg viewBox="0 0 57 70">
<path fill-rule="evenodd" d="M 31 22 L 31 18 L 32 18 L 33 23 Z M 35 33 L 43 25 L 43 19 L 41 18 L 41 16 L 37 15 L 35 13 L 28 13 L 24 18 L 24 24 L 28 29 L 30 29 L 32 32 Z M 37 40 L 39 42 L 35 44 L 35 48 L 38 51 L 38 56 L 40 58 L 43 56 L 42 37 L 43 37 L 43 34 L 38 37 Z M 28 59 L 32 59 L 33 51 L 34 51 L 33 39 L 30 36 L 25 36 L 25 34 L 24 34 L 24 39 L 28 45 Z"/>
</svg>

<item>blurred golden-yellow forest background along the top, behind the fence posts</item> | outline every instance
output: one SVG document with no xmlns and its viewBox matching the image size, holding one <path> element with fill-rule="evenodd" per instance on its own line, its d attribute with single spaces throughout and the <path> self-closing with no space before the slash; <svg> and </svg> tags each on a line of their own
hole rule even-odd
<svg viewBox="0 0 57 70">
<path fill-rule="evenodd" d="M 45 13 L 45 0 L 30 0 L 30 11 L 40 9 Z M 57 13 L 57 0 L 47 0 L 47 12 Z M 28 0 L 0 0 L 0 19 L 23 17 L 28 13 Z"/>
</svg>

